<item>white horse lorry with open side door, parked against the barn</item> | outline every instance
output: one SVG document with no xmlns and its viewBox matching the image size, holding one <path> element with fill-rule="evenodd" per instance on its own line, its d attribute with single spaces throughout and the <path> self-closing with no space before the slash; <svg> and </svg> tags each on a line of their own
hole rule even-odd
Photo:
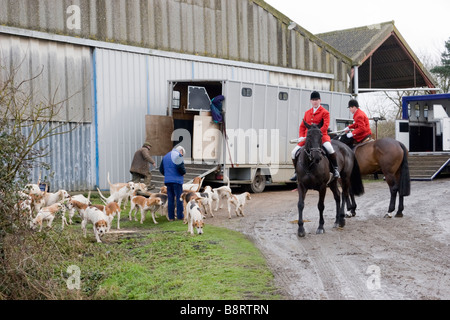
<svg viewBox="0 0 450 320">
<path fill-rule="evenodd" d="M 147 116 L 147 139 L 155 156 L 174 146 L 186 150 L 188 174 L 205 177 L 203 185 L 245 186 L 254 193 L 266 185 L 289 183 L 294 174 L 290 140 L 311 108 L 313 90 L 232 80 L 169 81 L 168 116 Z M 330 111 L 330 129 L 352 123 L 348 93 L 317 90 Z M 223 121 L 211 115 L 211 100 L 223 95 Z M 153 182 L 163 177 L 153 171 Z"/>
</svg>

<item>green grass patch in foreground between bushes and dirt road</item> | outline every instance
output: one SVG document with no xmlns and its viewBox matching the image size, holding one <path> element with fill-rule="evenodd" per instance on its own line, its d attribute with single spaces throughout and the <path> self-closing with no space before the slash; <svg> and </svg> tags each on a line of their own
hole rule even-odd
<svg viewBox="0 0 450 320">
<path fill-rule="evenodd" d="M 133 233 L 106 234 L 97 244 L 92 227 L 84 239 L 79 224 L 64 230 L 68 248 L 63 266 L 81 270 L 79 296 L 112 300 L 270 300 L 281 299 L 264 257 L 245 236 L 208 225 L 192 236 L 181 221 L 151 215 L 144 224 L 128 221 L 121 229 Z M 140 219 L 140 214 L 138 214 Z M 207 222 L 207 221 L 206 221 Z M 117 221 L 114 220 L 112 231 Z M 52 231 L 54 232 L 54 231 Z M 73 241 L 76 238 L 76 241 Z M 66 240 L 61 241 L 62 243 Z M 70 243 L 71 242 L 71 243 Z M 75 245 L 74 245 L 75 242 Z M 73 296 L 73 292 L 71 293 Z"/>
</svg>

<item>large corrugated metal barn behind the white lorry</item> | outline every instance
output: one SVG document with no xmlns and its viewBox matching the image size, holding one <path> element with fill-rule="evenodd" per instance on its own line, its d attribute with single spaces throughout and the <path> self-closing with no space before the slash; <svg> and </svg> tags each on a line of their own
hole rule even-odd
<svg viewBox="0 0 450 320">
<path fill-rule="evenodd" d="M 68 191 L 130 180 L 169 80 L 351 91 L 350 58 L 260 0 L 0 0 L 0 64 L 0 79 L 42 72 L 36 103 L 68 99 L 55 120 L 75 129 L 45 142 L 51 187 Z"/>
</svg>

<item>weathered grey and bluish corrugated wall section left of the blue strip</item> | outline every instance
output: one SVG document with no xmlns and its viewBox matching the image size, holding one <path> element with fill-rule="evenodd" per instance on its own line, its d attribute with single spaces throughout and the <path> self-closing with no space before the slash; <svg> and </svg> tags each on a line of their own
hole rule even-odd
<svg viewBox="0 0 450 320">
<path fill-rule="evenodd" d="M 19 2 L 18 5 L 25 3 Z M 92 188 L 90 49 L 0 34 L 0 65 L 1 80 L 8 78 L 14 69 L 17 85 L 36 77 L 21 86 L 24 96 L 31 97 L 30 108 L 39 104 L 49 105 L 51 101 L 64 101 L 60 105 L 60 113 L 52 118 L 52 126 L 61 126 L 58 133 L 68 133 L 46 138 L 36 146 L 50 151 L 42 161 L 49 164 L 51 170 L 37 167 L 30 180 L 37 182 L 41 174 L 42 179 L 47 177 L 52 191 Z M 25 129 L 24 134 L 28 133 Z"/>
</svg>

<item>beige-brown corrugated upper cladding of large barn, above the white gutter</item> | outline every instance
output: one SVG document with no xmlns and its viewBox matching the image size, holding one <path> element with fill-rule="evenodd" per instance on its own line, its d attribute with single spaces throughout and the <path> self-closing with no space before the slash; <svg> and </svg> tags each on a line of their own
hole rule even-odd
<svg viewBox="0 0 450 320">
<path fill-rule="evenodd" d="M 0 8 L 6 26 L 331 73 L 330 90 L 350 89 L 351 60 L 300 26 L 289 30 L 291 20 L 262 0 L 0 0 Z"/>
</svg>

